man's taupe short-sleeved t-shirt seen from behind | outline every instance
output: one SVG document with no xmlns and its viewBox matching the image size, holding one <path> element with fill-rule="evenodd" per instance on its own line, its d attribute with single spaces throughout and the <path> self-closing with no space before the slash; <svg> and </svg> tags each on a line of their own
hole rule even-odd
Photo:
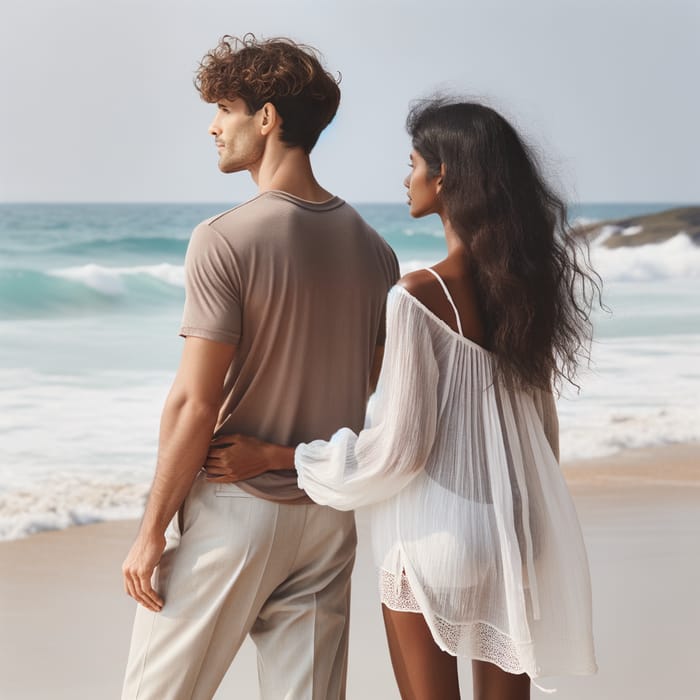
<svg viewBox="0 0 700 700">
<path fill-rule="evenodd" d="M 217 434 L 296 445 L 343 426 L 359 431 L 398 276 L 389 245 L 338 197 L 316 204 L 265 192 L 199 224 L 180 334 L 236 345 Z M 293 470 L 239 485 L 311 502 Z"/>
</svg>

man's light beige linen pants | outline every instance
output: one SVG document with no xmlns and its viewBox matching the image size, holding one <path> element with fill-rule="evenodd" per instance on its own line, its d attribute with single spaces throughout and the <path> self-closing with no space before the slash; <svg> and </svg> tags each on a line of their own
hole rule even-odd
<svg viewBox="0 0 700 700">
<path fill-rule="evenodd" d="M 342 700 L 355 545 L 351 512 L 198 477 L 156 570 L 165 604 L 137 607 L 122 699 L 208 700 L 250 634 L 263 700 Z"/>
</svg>

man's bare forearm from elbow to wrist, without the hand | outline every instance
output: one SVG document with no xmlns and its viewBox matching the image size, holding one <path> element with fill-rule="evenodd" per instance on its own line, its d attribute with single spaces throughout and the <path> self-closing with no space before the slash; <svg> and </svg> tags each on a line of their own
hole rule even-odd
<svg viewBox="0 0 700 700">
<path fill-rule="evenodd" d="M 158 463 L 141 524 L 162 533 L 185 500 L 206 459 L 218 407 L 169 397 L 161 418 Z"/>
</svg>

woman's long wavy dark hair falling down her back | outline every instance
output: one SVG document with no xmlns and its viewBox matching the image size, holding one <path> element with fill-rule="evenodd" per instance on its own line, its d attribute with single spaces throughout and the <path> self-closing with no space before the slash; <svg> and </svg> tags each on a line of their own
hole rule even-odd
<svg viewBox="0 0 700 700">
<path fill-rule="evenodd" d="M 474 102 L 418 102 L 406 126 L 429 173 L 444 164 L 440 197 L 469 255 L 497 370 L 526 386 L 578 387 L 600 277 L 533 150 Z"/>
</svg>

